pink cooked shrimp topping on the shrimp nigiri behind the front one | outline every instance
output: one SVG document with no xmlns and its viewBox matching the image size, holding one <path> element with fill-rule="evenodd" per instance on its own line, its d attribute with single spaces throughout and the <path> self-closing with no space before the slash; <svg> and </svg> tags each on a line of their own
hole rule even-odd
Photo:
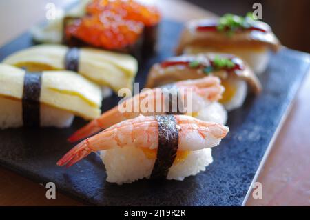
<svg viewBox="0 0 310 220">
<path fill-rule="evenodd" d="M 193 79 L 187 81 L 178 81 L 174 83 L 174 87 L 178 89 L 180 94 L 183 96 L 183 100 L 185 97 L 185 90 L 192 89 L 193 94 L 193 107 L 200 108 L 205 107 L 204 103 L 210 103 L 213 101 L 218 101 L 221 99 L 224 88 L 220 86 L 220 79 L 218 77 L 204 77 L 201 79 Z M 149 106 L 148 112 L 143 112 L 141 109 L 141 103 L 147 102 L 149 99 L 153 99 L 153 101 L 149 101 L 152 106 Z M 120 112 L 119 107 L 123 106 L 131 106 L 132 111 L 130 112 Z M 88 123 L 83 128 L 77 130 L 72 136 L 68 139 L 70 142 L 79 141 L 80 139 L 84 139 L 86 137 L 90 137 L 90 135 L 95 134 L 105 128 L 109 128 L 110 126 L 127 119 L 132 119 L 134 117 L 138 117 L 139 114 L 147 115 L 156 115 L 156 114 L 164 114 L 163 108 L 161 111 L 158 111 L 156 106 L 163 106 L 163 91 L 161 88 L 155 88 L 149 90 L 147 92 L 142 92 L 140 94 L 136 94 L 131 99 L 127 99 L 123 103 L 120 103 L 118 106 L 112 108 L 111 110 L 101 114 L 101 117 L 94 119 L 90 123 Z M 138 111 L 134 112 L 134 109 Z M 196 110 L 197 112 L 198 110 Z M 192 112 L 185 112 L 192 113 Z"/>
</svg>

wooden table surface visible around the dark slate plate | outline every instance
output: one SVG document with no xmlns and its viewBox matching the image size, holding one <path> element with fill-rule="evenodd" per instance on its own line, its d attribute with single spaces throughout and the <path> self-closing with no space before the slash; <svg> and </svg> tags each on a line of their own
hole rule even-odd
<svg viewBox="0 0 310 220">
<path fill-rule="evenodd" d="M 43 21 L 46 3 L 54 2 L 62 7 L 71 1 L 0 1 L 0 46 Z M 215 16 L 180 0 L 156 0 L 155 3 L 164 17 L 177 21 Z M 258 176 L 257 181 L 262 183 L 262 199 L 254 199 L 250 194 L 247 206 L 310 206 L 309 94 L 308 74 Z M 46 199 L 43 186 L 0 167 L 0 206 L 81 205 L 83 203 L 60 193 L 56 193 L 56 199 Z"/>
</svg>

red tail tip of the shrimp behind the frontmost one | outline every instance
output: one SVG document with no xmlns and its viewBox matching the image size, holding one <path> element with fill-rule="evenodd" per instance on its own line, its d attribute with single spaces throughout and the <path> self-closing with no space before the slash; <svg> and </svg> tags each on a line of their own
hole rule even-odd
<svg viewBox="0 0 310 220">
<path fill-rule="evenodd" d="M 101 128 L 101 126 L 99 126 L 98 121 L 96 119 L 94 119 L 90 123 L 87 123 L 86 126 L 83 126 L 79 130 L 74 132 L 74 134 L 72 134 L 68 138 L 68 141 L 70 143 L 74 143 L 74 142 L 79 141 L 81 139 L 85 139 L 87 137 L 90 137 L 90 136 L 92 136 L 92 134 L 96 134 L 96 133 L 100 132 L 101 130 L 103 130 L 103 128 Z"/>
</svg>

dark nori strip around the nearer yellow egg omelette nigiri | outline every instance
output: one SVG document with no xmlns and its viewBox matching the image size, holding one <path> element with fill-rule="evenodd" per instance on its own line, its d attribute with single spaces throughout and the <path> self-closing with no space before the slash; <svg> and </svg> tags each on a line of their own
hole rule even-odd
<svg viewBox="0 0 310 220">
<path fill-rule="evenodd" d="M 25 72 L 23 81 L 23 126 L 40 126 L 41 72 Z"/>
</svg>

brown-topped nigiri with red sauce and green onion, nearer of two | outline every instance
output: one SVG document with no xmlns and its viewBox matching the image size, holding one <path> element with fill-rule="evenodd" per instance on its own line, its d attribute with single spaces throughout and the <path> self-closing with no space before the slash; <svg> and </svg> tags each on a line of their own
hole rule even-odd
<svg viewBox="0 0 310 220">
<path fill-rule="evenodd" d="M 220 77 L 225 88 L 222 98 L 226 110 L 242 106 L 248 92 L 258 94 L 260 81 L 247 63 L 233 54 L 202 53 L 172 57 L 152 66 L 145 87 L 154 88 L 174 81 Z"/>
</svg>

